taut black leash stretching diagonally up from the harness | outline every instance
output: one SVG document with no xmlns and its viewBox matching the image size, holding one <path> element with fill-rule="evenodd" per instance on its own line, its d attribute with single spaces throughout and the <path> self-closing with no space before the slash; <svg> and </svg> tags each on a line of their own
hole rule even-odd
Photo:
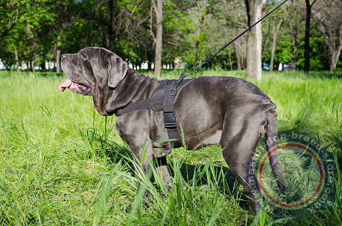
<svg viewBox="0 0 342 226">
<path fill-rule="evenodd" d="M 246 29 L 244 32 L 240 33 L 239 36 L 236 36 L 233 40 L 231 40 L 231 42 L 228 42 L 225 46 L 223 46 L 222 48 L 220 48 L 218 51 L 216 51 L 216 53 L 214 53 L 213 55 L 211 55 L 211 57 L 209 57 L 208 59 L 206 59 L 205 61 L 203 61 L 202 63 L 199 63 L 198 66 L 192 67 L 187 73 L 181 73 L 181 76 L 179 77 L 179 80 L 177 82 L 177 85 L 179 85 L 179 83 L 181 83 L 181 81 L 188 76 L 189 74 L 195 74 L 199 68 L 201 68 L 205 63 L 207 63 L 208 61 L 210 61 L 211 59 L 213 59 L 213 57 L 215 57 L 215 55 L 218 55 L 218 53 L 220 53 L 221 51 L 224 50 L 224 48 L 227 48 L 229 45 L 231 45 L 233 42 L 235 42 L 237 39 L 239 39 L 241 36 L 244 36 L 245 33 L 247 33 L 248 31 L 250 31 L 250 29 L 252 29 L 253 27 L 255 27 L 255 25 L 259 24 L 261 21 L 263 21 L 267 16 L 269 16 L 270 14 L 272 14 L 274 11 L 278 10 L 278 8 L 280 8 L 282 5 L 284 5 L 287 1 L 289 0 L 285 0 L 283 3 L 281 3 L 280 5 L 278 5 L 276 8 L 274 8 L 271 12 L 269 12 L 268 14 L 266 14 L 265 16 L 263 16 L 263 18 L 261 18 L 260 20 L 258 20 L 256 23 L 254 23 L 254 25 L 248 27 L 248 29 Z"/>
</svg>

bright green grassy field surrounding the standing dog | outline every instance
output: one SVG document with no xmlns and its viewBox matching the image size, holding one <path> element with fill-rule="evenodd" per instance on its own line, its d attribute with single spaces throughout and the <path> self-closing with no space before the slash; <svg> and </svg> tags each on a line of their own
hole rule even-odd
<svg viewBox="0 0 342 226">
<path fill-rule="evenodd" d="M 198 76 L 244 74 L 212 70 Z M 162 79 L 178 76 L 164 72 Z M 170 192 L 155 171 L 154 182 L 141 173 L 150 195 L 142 206 L 144 189 L 136 191 L 134 163 L 115 132 L 116 117 L 98 115 L 90 97 L 61 93 L 57 87 L 65 78 L 0 72 L 1 225 L 342 225 L 341 168 L 332 202 L 317 212 L 269 204 L 254 214 L 218 145 L 174 150 L 168 156 Z M 252 82 L 277 104 L 280 131 L 310 132 L 341 167 L 341 76 L 264 72 L 262 82 Z"/>
</svg>

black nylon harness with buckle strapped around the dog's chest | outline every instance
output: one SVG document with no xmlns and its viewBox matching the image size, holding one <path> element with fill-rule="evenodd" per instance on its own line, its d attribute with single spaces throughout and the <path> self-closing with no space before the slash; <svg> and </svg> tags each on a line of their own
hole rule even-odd
<svg viewBox="0 0 342 226">
<path fill-rule="evenodd" d="M 177 130 L 176 115 L 174 115 L 174 103 L 179 97 L 181 90 L 192 81 L 194 81 L 194 79 L 162 80 L 149 99 L 130 102 L 126 107 L 116 110 L 115 115 L 116 117 L 119 117 L 124 113 L 143 109 L 163 111 L 164 127 L 168 130 L 169 139 L 174 139 L 170 142 L 174 148 L 181 147 L 181 136 Z"/>
</svg>

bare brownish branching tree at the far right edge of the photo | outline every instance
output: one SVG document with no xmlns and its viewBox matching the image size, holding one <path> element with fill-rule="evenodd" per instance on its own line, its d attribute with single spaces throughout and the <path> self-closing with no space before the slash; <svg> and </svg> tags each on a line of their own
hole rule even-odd
<svg viewBox="0 0 342 226">
<path fill-rule="evenodd" d="M 330 59 L 330 71 L 336 70 L 342 50 L 342 1 L 318 1 L 313 18 L 324 36 Z"/>
</svg>

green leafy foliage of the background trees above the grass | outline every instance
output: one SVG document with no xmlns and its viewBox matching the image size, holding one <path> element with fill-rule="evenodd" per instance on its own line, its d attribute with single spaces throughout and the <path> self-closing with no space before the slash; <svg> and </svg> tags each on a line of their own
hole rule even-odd
<svg viewBox="0 0 342 226">
<path fill-rule="evenodd" d="M 264 12 L 280 1 L 267 1 Z M 112 5 L 112 8 L 111 8 Z M 55 61 L 56 50 L 77 53 L 86 46 L 103 46 L 122 58 L 140 65 L 153 63 L 155 16 L 150 1 L 9 1 L 0 3 L 0 58 L 5 66 L 15 68 L 24 62 L 35 66 Z M 299 69 L 304 65 L 304 13 L 301 1 L 291 1 L 263 22 L 263 61 L 269 62 L 272 26 L 287 10 L 278 35 L 275 65 L 293 61 Z M 152 14 L 151 14 L 152 13 Z M 163 1 L 163 64 L 181 58 L 184 63 L 197 64 L 247 26 L 244 1 Z M 291 28 L 290 24 L 293 25 Z M 295 31 L 296 42 L 293 42 Z M 324 38 L 313 24 L 311 35 L 312 70 L 328 70 L 328 51 Z M 268 33 L 268 34 L 267 34 Z M 270 41 L 271 40 L 271 41 Z M 246 37 L 236 46 L 223 51 L 207 64 L 209 68 L 237 68 L 237 59 L 246 61 Z M 295 55 L 294 48 L 298 48 Z M 244 63 L 243 67 L 244 67 Z M 341 69 L 341 62 L 337 64 Z"/>
</svg>

